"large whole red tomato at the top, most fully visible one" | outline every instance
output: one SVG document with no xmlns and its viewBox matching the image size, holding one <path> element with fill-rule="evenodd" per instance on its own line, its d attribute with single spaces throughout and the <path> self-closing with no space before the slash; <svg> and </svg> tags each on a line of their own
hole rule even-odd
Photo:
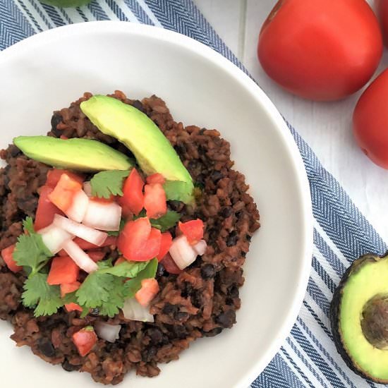
<svg viewBox="0 0 388 388">
<path fill-rule="evenodd" d="M 382 36 L 365 0 L 280 0 L 262 25 L 257 54 L 269 77 L 289 92 L 330 101 L 370 80 Z"/>
</svg>

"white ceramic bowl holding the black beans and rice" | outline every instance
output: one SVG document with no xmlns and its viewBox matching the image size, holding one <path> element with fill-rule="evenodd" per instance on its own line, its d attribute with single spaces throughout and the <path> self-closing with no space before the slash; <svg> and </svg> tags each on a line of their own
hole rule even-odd
<svg viewBox="0 0 388 388">
<path fill-rule="evenodd" d="M 237 324 L 200 339 L 154 379 L 131 373 L 131 387 L 245 388 L 265 368 L 293 325 L 312 248 L 310 192 L 284 121 L 264 92 L 222 56 L 183 35 L 120 22 L 56 28 L 0 53 L 0 146 L 16 135 L 45 134 L 51 112 L 85 91 L 119 89 L 162 97 L 186 125 L 217 128 L 231 142 L 260 210 L 244 266 Z M 1 387 L 95 387 L 16 348 L 0 322 Z"/>
</svg>

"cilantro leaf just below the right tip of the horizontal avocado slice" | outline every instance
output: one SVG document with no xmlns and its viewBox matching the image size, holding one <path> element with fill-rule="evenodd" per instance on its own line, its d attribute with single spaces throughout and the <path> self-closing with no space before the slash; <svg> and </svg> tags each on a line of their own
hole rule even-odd
<svg viewBox="0 0 388 388">
<path fill-rule="evenodd" d="M 129 170 L 101 171 L 90 180 L 92 195 L 99 198 L 110 198 L 111 195 L 123 195 L 123 180 Z"/>
</svg>

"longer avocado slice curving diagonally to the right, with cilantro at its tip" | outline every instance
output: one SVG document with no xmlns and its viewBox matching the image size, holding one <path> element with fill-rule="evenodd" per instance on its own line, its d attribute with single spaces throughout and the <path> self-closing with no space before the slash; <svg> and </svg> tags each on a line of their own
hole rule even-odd
<svg viewBox="0 0 388 388">
<path fill-rule="evenodd" d="M 147 175 L 159 173 L 174 181 L 169 200 L 193 199 L 193 179 L 169 140 L 142 111 L 113 97 L 95 95 L 80 104 L 83 113 L 102 133 L 113 136 L 133 152 Z"/>
</svg>

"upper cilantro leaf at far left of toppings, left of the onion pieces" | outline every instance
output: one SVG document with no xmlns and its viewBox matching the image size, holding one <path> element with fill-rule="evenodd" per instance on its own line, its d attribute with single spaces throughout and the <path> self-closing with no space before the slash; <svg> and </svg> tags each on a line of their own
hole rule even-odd
<svg viewBox="0 0 388 388">
<path fill-rule="evenodd" d="M 29 267 L 33 275 L 37 273 L 51 257 L 51 252 L 42 241 L 40 234 L 21 234 L 18 237 L 13 259 L 21 267 Z"/>
</svg>

